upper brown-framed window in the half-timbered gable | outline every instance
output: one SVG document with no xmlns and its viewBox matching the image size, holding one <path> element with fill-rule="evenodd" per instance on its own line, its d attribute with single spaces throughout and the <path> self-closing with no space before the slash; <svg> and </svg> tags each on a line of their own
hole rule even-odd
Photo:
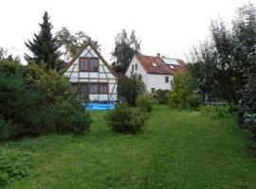
<svg viewBox="0 0 256 189">
<path fill-rule="evenodd" d="M 80 58 L 81 72 L 98 72 L 99 60 L 96 58 Z"/>
</svg>

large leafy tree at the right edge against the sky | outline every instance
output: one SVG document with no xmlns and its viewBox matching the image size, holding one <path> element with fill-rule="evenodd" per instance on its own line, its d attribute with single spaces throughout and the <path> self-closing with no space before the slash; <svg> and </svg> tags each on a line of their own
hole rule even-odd
<svg viewBox="0 0 256 189">
<path fill-rule="evenodd" d="M 189 72 L 194 88 L 218 95 L 237 111 L 248 76 L 256 70 L 256 11 L 237 10 L 231 27 L 221 18 L 210 25 L 210 39 L 192 49 Z M 215 93 L 214 93 L 215 92 Z"/>
</svg>

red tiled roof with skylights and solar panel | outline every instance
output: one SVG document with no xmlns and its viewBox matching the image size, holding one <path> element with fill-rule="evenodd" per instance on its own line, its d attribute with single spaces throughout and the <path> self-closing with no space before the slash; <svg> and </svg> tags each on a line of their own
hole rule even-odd
<svg viewBox="0 0 256 189">
<path fill-rule="evenodd" d="M 186 64 L 183 60 L 141 54 L 137 54 L 136 58 L 148 74 L 170 75 L 186 69 Z"/>
</svg>

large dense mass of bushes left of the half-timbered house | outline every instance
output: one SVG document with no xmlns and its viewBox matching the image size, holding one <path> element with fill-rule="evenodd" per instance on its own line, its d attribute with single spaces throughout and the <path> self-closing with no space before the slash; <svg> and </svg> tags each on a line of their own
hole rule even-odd
<svg viewBox="0 0 256 189">
<path fill-rule="evenodd" d="M 91 118 L 54 70 L 0 61 L 0 140 L 48 132 L 83 133 Z M 3 132 L 2 132 L 3 133 Z"/>
</svg>

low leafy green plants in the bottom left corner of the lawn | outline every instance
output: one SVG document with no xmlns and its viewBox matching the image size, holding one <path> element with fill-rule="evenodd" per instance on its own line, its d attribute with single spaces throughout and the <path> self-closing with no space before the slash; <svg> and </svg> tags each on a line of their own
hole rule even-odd
<svg viewBox="0 0 256 189">
<path fill-rule="evenodd" d="M 34 161 L 30 154 L 18 151 L 0 151 L 0 188 L 11 181 L 30 176 Z"/>
</svg>

